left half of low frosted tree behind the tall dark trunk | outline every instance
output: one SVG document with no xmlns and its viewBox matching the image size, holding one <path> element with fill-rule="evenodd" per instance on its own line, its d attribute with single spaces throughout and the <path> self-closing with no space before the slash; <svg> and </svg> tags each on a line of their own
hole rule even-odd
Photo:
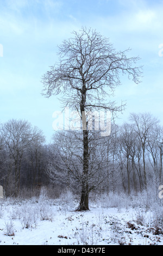
<svg viewBox="0 0 163 256">
<path fill-rule="evenodd" d="M 72 131 L 54 134 L 51 144 L 51 157 L 48 160 L 47 174 L 52 183 L 68 188 L 80 186 L 82 175 L 82 139 Z"/>
</svg>

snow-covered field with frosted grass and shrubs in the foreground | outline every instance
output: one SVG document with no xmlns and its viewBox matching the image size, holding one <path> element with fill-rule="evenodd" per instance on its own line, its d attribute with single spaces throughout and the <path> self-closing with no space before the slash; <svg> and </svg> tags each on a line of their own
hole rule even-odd
<svg viewBox="0 0 163 256">
<path fill-rule="evenodd" d="M 55 200 L 45 192 L 4 199 L 0 245 L 163 245 L 160 202 L 149 207 L 149 197 L 138 202 L 111 194 L 90 200 L 90 211 L 79 212 L 72 199 L 69 192 Z"/>
</svg>

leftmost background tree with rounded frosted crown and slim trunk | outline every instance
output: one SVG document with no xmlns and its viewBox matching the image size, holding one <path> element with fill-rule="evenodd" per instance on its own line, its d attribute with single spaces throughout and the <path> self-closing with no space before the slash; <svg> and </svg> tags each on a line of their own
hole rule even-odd
<svg viewBox="0 0 163 256">
<path fill-rule="evenodd" d="M 20 191 L 22 157 L 24 151 L 37 136 L 37 129 L 36 127 L 33 129 L 26 120 L 11 119 L 3 124 L 2 134 L 9 151 L 9 175 L 7 179 L 10 179 L 10 182 L 11 179 L 14 179 L 12 183 L 14 182 L 14 193 L 17 196 Z"/>
</svg>

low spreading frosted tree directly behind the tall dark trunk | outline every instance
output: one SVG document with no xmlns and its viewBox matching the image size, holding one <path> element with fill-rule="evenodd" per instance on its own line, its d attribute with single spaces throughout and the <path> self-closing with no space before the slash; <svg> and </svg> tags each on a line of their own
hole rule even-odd
<svg viewBox="0 0 163 256">
<path fill-rule="evenodd" d="M 105 139 L 97 132 L 89 132 L 89 172 L 86 177 L 89 193 L 102 188 L 108 166 Z M 60 131 L 53 136 L 47 174 L 54 184 L 61 184 L 76 192 L 83 181 L 83 136 L 78 131 Z"/>
</svg>

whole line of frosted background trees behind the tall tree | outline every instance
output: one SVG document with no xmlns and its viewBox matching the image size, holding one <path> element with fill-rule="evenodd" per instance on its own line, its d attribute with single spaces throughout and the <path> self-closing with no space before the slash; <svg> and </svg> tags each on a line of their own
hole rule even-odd
<svg viewBox="0 0 163 256">
<path fill-rule="evenodd" d="M 55 132 L 51 145 L 42 131 L 25 120 L 1 125 L 0 182 L 7 196 L 23 187 L 53 183 L 80 191 L 83 145 L 81 131 Z M 89 131 L 89 192 L 139 192 L 162 185 L 163 128 L 149 113 L 130 114 L 123 125 L 111 125 L 111 135 Z"/>
</svg>

